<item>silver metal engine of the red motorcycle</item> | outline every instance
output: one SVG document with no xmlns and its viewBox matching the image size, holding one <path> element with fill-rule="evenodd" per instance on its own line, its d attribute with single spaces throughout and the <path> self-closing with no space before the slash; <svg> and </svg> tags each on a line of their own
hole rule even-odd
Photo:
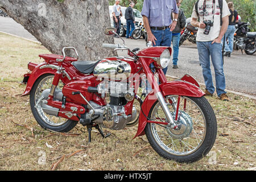
<svg viewBox="0 0 256 182">
<path fill-rule="evenodd" d="M 102 127 L 112 130 L 121 130 L 127 123 L 137 119 L 137 110 L 133 107 L 132 114 L 125 114 L 125 105 L 134 99 L 134 90 L 129 88 L 127 82 L 102 81 L 98 84 L 98 93 L 101 97 L 107 96 L 109 104 L 97 106 L 96 110 L 101 117 L 94 122 L 100 123 Z"/>
</svg>

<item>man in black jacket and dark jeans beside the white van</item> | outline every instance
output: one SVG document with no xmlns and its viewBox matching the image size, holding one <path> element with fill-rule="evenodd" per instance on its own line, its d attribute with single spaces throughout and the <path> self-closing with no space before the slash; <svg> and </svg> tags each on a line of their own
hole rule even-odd
<svg viewBox="0 0 256 182">
<path fill-rule="evenodd" d="M 134 13 L 133 13 L 133 7 L 134 3 L 131 2 L 129 7 L 125 10 L 125 19 L 126 19 L 126 25 L 127 25 L 127 30 L 126 30 L 126 38 L 131 38 L 131 33 L 133 33 L 134 30 L 134 23 L 135 23 L 135 18 L 134 18 Z M 131 28 L 131 30 L 130 30 Z"/>
</svg>

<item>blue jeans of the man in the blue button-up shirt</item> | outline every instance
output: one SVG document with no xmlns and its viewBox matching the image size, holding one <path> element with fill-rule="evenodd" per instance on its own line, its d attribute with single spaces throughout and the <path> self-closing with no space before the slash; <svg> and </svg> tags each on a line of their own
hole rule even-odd
<svg viewBox="0 0 256 182">
<path fill-rule="evenodd" d="M 153 43 L 153 46 L 167 46 L 171 47 L 171 41 L 172 41 L 172 32 L 170 31 L 170 28 L 166 28 L 166 30 L 153 30 L 151 28 L 152 34 L 155 36 L 157 40 L 155 40 L 155 45 Z M 168 67 L 163 69 L 164 75 L 166 75 Z"/>
</svg>

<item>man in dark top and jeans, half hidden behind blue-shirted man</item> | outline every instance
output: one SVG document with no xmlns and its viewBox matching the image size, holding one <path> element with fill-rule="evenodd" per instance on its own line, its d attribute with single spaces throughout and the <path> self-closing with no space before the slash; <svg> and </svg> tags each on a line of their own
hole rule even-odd
<svg viewBox="0 0 256 182">
<path fill-rule="evenodd" d="M 172 31 L 172 47 L 174 48 L 174 53 L 172 55 L 172 68 L 178 68 L 177 67 L 177 61 L 178 61 L 178 56 L 179 56 L 179 43 L 180 43 L 180 32 L 183 30 L 186 24 L 186 18 L 184 15 L 183 10 L 180 9 L 180 1 L 181 0 L 176 0 L 177 7 L 179 7 L 179 16 L 177 18 L 177 24 Z M 172 18 L 172 15 L 171 15 Z"/>
</svg>

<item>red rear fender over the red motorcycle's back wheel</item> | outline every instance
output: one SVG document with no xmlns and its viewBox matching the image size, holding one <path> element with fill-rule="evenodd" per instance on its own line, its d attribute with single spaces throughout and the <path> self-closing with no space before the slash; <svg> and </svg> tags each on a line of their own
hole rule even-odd
<svg viewBox="0 0 256 182">
<path fill-rule="evenodd" d="M 55 74 L 56 69 L 51 69 L 51 68 L 40 69 L 40 67 L 42 67 L 42 65 L 44 65 L 44 64 L 46 64 L 46 63 L 38 64 L 30 74 L 26 75 L 28 77 L 27 86 L 26 86 L 26 89 L 25 89 L 24 93 L 22 94 L 22 96 L 27 96 L 28 94 L 30 94 L 32 86 L 34 85 L 35 81 L 38 80 L 38 78 L 40 76 L 47 74 L 47 73 L 50 73 L 52 75 Z"/>
</svg>

